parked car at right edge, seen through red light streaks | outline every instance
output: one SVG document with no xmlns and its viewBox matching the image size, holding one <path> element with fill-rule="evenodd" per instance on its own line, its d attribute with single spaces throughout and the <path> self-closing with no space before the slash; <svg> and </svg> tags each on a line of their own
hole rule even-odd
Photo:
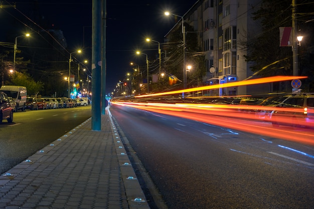
<svg viewBox="0 0 314 209">
<path fill-rule="evenodd" d="M 314 94 L 293 94 L 271 112 L 274 127 L 288 125 L 314 128 Z"/>
</svg>

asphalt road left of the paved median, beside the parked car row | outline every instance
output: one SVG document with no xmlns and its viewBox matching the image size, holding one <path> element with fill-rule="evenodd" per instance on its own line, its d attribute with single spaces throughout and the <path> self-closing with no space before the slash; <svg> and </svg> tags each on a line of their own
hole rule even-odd
<svg viewBox="0 0 314 209">
<path fill-rule="evenodd" d="M 0 124 L 0 173 L 91 117 L 91 106 L 15 112 L 13 123 Z"/>
</svg>

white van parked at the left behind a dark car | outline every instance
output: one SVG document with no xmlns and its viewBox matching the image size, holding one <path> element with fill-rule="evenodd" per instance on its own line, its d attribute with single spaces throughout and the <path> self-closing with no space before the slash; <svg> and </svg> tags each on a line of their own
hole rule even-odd
<svg viewBox="0 0 314 209">
<path fill-rule="evenodd" d="M 15 112 L 21 109 L 22 111 L 25 110 L 25 103 L 26 103 L 26 87 L 24 86 L 2 86 L 0 91 L 5 92 L 8 97 L 12 97 L 13 100 L 16 102 Z"/>
</svg>

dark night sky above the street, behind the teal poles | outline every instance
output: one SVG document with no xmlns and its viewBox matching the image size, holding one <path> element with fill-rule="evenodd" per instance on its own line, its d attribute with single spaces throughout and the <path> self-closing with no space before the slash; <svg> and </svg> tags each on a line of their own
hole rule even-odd
<svg viewBox="0 0 314 209">
<path fill-rule="evenodd" d="M 144 39 L 150 37 L 162 43 L 164 36 L 175 25 L 174 17 L 166 17 L 164 12 L 168 10 L 173 14 L 183 16 L 196 2 L 197 0 L 107 0 L 106 92 L 111 92 L 116 83 L 132 70 L 130 62 L 145 65 L 144 56 L 136 56 L 136 50 L 153 56 L 151 48 L 154 46 L 149 46 Z M 3 5 L 9 4 L 13 3 L 3 1 Z M 2 29 L 6 28 L 8 18 L 16 21 L 20 19 L 25 24 L 30 23 L 26 20 L 29 18 L 39 25 L 38 22 L 45 19 L 49 28 L 63 31 L 69 52 L 83 48 L 84 55 L 91 64 L 91 0 L 17 1 L 16 9 L 6 8 L 6 11 L 4 13 L 0 9 Z M 24 15 L 26 17 L 23 17 Z M 0 42 L 13 42 L 14 38 L 8 40 L 10 39 L 8 34 L 5 34 L 5 30 L 1 30 Z M 158 46 L 155 48 L 155 54 L 157 54 Z M 88 67 L 91 69 L 90 65 Z"/>
</svg>

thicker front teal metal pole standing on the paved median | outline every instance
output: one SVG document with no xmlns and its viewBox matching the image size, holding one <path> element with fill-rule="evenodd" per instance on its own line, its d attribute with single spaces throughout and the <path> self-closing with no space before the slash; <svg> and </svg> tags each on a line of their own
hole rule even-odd
<svg viewBox="0 0 314 209">
<path fill-rule="evenodd" d="M 101 130 L 101 2 L 92 0 L 92 130 Z"/>
</svg>

